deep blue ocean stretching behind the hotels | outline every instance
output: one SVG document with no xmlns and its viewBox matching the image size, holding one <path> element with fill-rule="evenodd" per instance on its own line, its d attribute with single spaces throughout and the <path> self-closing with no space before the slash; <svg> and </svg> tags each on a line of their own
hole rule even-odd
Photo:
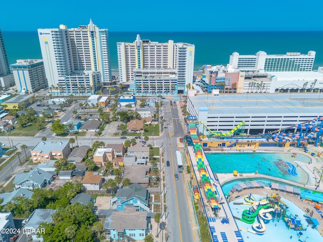
<svg viewBox="0 0 323 242">
<path fill-rule="evenodd" d="M 195 44 L 194 70 L 202 66 L 227 65 L 230 54 L 286 54 L 309 50 L 316 52 L 313 70 L 323 66 L 323 31 L 298 32 L 109 32 L 112 71 L 118 71 L 117 42 L 134 42 L 136 35 L 154 42 L 186 42 Z M 37 32 L 3 32 L 9 64 L 16 59 L 42 58 Z"/>
</svg>

